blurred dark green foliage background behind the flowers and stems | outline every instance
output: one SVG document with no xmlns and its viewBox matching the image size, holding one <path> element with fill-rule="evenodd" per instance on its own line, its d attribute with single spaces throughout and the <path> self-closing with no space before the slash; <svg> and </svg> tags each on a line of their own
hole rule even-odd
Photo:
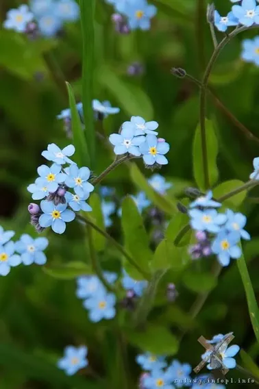
<svg viewBox="0 0 259 389">
<path fill-rule="evenodd" d="M 87 0 L 86 0 L 87 1 Z M 158 7 L 149 32 L 135 31 L 127 36 L 114 32 L 112 7 L 103 0 L 96 1 L 95 11 L 95 98 L 109 100 L 121 108 L 118 115 L 103 123 L 108 136 L 118 131 L 121 123 L 132 115 L 159 123 L 160 136 L 171 145 L 168 159 L 160 173 L 175 184 L 177 194 L 193 182 L 192 142 L 199 114 L 199 90 L 188 79 L 177 79 L 170 73 L 172 66 L 182 67 L 201 79 L 212 53 L 212 40 L 206 23 L 205 0 L 149 0 Z M 10 8 L 20 1 L 2 0 L 1 22 Z M 217 0 L 216 8 L 225 14 L 230 1 Z M 259 138 L 259 69 L 240 60 L 241 41 L 256 35 L 256 30 L 238 35 L 221 53 L 214 67 L 210 86 L 228 110 Z M 223 38 L 223 34 L 218 34 Z M 46 58 L 55 58 L 53 77 Z M 127 75 L 132 62 L 141 62 L 143 75 Z M 53 65 L 53 62 L 51 62 Z M 69 144 L 62 121 L 56 115 L 69 106 L 63 79 L 69 81 L 77 101 L 81 100 L 82 36 L 80 24 L 67 25 L 59 38 L 28 40 L 16 32 L 0 29 L 0 224 L 16 231 L 15 239 L 27 232 L 36 236 L 29 225 L 27 205 L 31 201 L 26 190 L 36 178 L 36 168 L 45 163 L 40 156 L 47 144 L 60 147 Z M 252 160 L 258 156 L 258 144 L 249 140 L 221 109 L 209 99 L 207 116 L 214 122 L 219 140 L 219 181 L 247 181 Z M 97 143 L 95 174 L 112 162 L 110 153 Z M 143 164 L 139 164 L 144 171 Z M 145 171 L 149 177 L 151 171 Z M 120 166 L 106 179 L 119 197 L 136 193 L 127 166 Z M 178 188 L 180 188 L 178 190 Z M 252 236 L 245 245 L 245 258 L 258 295 L 258 221 L 256 199 L 258 190 L 242 205 L 248 216 L 247 230 Z M 121 239 L 119 219 L 110 233 Z M 66 234 L 56 236 L 48 231 L 48 266 L 71 261 L 88 261 L 84 231 L 71 223 Z M 120 269 L 119 258 L 113 251 L 101 255 L 103 268 Z M 206 266 L 206 264 L 205 264 Z M 194 273 L 193 273 L 194 274 Z M 235 343 L 240 344 L 256 361 L 259 347 L 251 327 L 243 284 L 235 264 L 225 268 L 203 310 L 192 321 L 187 312 L 195 292 L 181 280 L 177 284 L 180 297 L 175 304 L 158 304 L 151 313 L 151 323 L 164 325 L 169 334 L 188 329 L 177 358 L 196 366 L 201 355 L 197 338 L 203 334 L 234 331 Z M 103 321 L 97 325 L 88 321 L 87 312 L 75 297 L 75 280 L 56 279 L 40 266 L 13 268 L 0 279 L 0 386 L 8 389 L 50 388 L 119 388 L 116 325 Z M 127 334 L 125 336 L 127 339 Z M 141 336 L 140 336 L 141 338 Z M 129 339 L 127 359 L 134 388 L 138 367 L 134 356 L 136 345 L 145 342 Z M 167 339 L 164 340 L 167 342 Z M 161 340 L 162 342 L 162 340 Z M 106 377 L 106 384 L 93 380 L 93 371 L 68 378 L 55 367 L 66 344 L 87 344 L 88 359 L 93 371 Z M 191 352 L 190 352 L 191 351 Z M 238 362 L 251 368 L 247 355 L 238 355 Z M 254 366 L 254 365 L 253 365 Z M 254 373 L 259 369 L 254 366 Z M 240 377 L 236 371 L 230 377 Z M 88 381 L 86 381 L 88 379 Z M 233 385 L 239 388 L 241 384 Z M 247 387 L 247 386 L 244 386 Z M 251 386 L 249 386 L 251 387 Z"/>
</svg>

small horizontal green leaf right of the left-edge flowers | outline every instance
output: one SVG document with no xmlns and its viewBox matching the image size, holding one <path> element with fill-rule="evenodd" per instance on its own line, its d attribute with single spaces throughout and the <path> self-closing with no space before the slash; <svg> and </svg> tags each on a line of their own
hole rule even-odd
<svg viewBox="0 0 259 389">
<path fill-rule="evenodd" d="M 93 274 L 90 266 L 84 262 L 71 262 L 58 266 L 44 266 L 44 273 L 58 279 L 74 279 L 80 275 Z"/>
</svg>

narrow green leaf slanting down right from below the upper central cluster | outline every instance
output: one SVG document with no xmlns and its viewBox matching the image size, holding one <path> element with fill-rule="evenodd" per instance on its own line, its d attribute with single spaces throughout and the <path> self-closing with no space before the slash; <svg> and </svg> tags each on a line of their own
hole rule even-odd
<svg viewBox="0 0 259 389">
<path fill-rule="evenodd" d="M 173 215 L 176 213 L 176 201 L 173 203 L 172 199 L 169 199 L 167 195 L 162 196 L 160 193 L 156 192 L 148 183 L 145 176 L 140 172 L 138 166 L 134 163 L 130 164 L 130 177 L 134 184 L 143 190 L 147 197 L 154 205 L 156 205 L 160 210 L 166 214 Z"/>
</svg>

